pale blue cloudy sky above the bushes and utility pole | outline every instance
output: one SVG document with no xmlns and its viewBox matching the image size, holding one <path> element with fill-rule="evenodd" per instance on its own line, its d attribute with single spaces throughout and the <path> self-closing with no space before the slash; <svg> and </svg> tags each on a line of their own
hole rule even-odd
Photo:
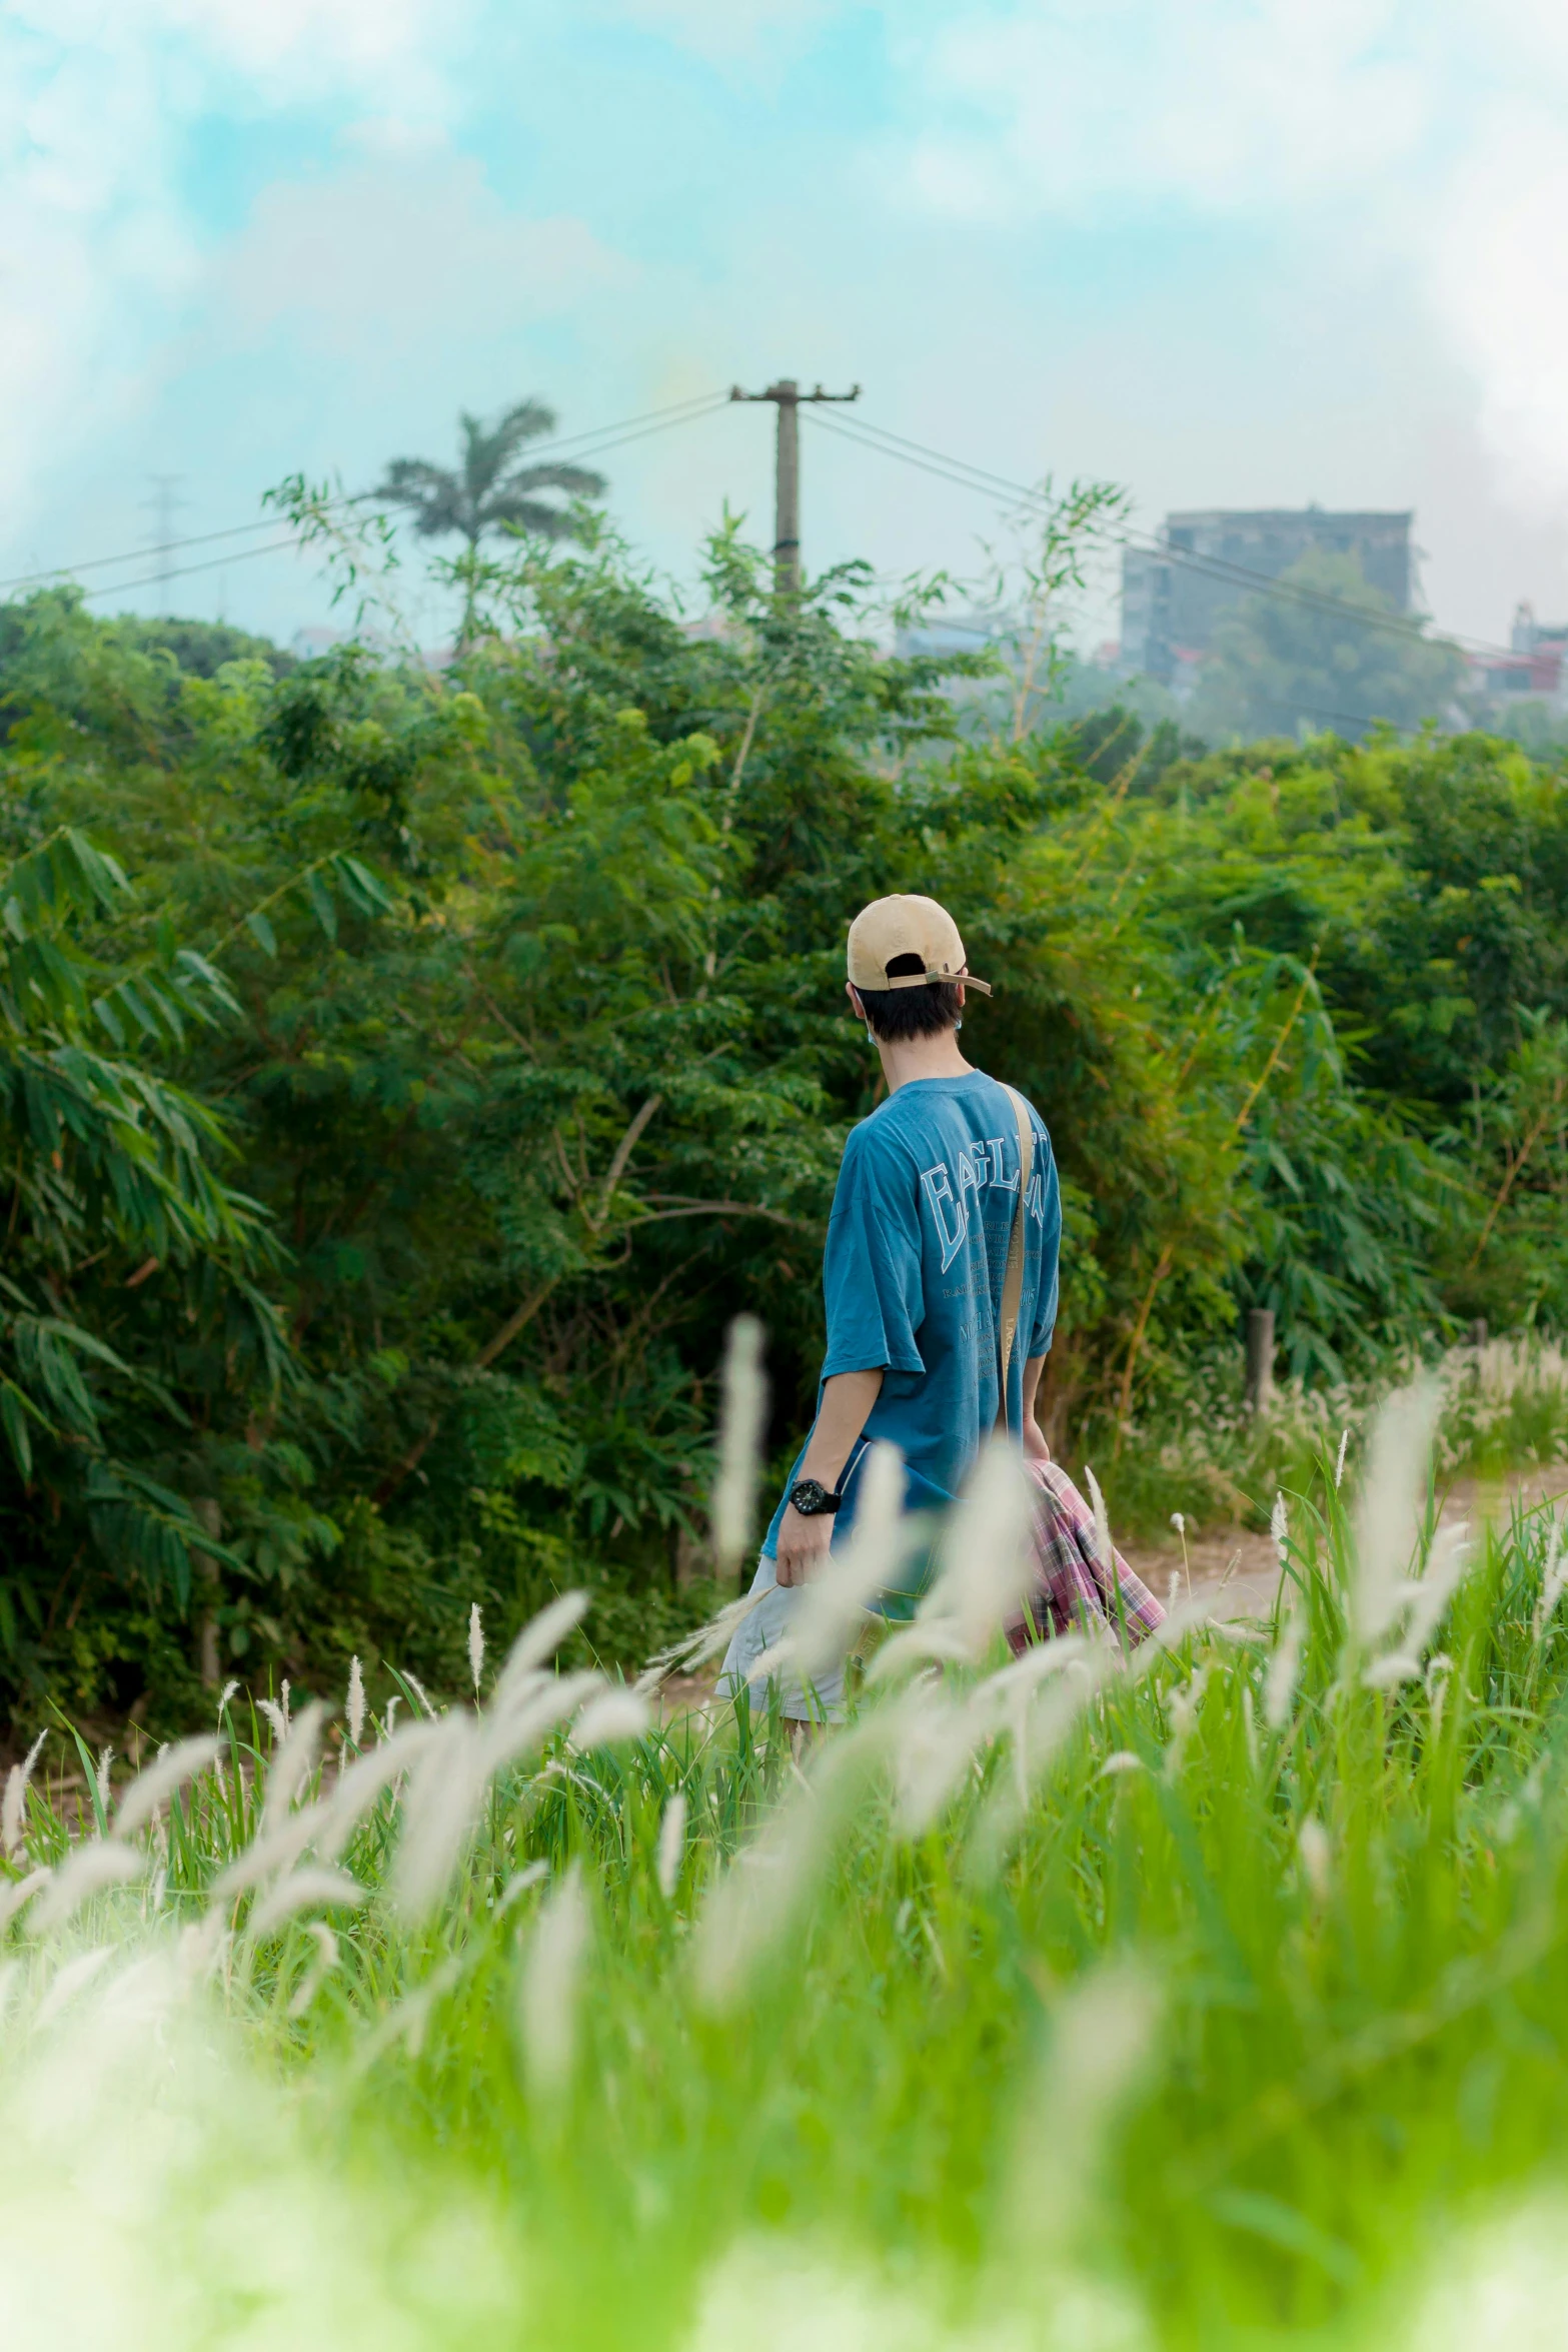
<svg viewBox="0 0 1568 2352">
<path fill-rule="evenodd" d="M 797 374 L 1145 522 L 1413 506 L 1427 602 L 1495 640 L 1568 616 L 1566 280 L 1561 0 L 0 0 L 0 576 L 143 546 L 155 475 L 219 532 L 458 407 Z M 726 499 L 771 536 L 769 412 L 604 470 L 677 574 Z M 806 442 L 811 567 L 992 529 Z M 322 619 L 252 543 L 176 607 Z"/>
</svg>

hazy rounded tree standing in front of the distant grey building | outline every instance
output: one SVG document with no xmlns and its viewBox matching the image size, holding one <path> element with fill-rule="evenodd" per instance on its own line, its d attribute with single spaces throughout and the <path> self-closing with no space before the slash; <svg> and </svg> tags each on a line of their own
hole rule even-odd
<svg viewBox="0 0 1568 2352">
<path fill-rule="evenodd" d="M 1458 647 L 1380 626 L 1394 607 L 1354 557 L 1309 550 L 1279 586 L 1300 595 L 1244 595 L 1215 626 L 1187 708 L 1199 736 L 1359 739 L 1380 720 L 1408 731 L 1450 710 L 1465 677 Z"/>
</svg>

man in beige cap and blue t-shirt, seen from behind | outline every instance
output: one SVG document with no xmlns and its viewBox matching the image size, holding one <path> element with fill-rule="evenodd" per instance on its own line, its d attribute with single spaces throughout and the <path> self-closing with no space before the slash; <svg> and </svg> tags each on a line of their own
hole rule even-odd
<svg viewBox="0 0 1568 2352">
<path fill-rule="evenodd" d="M 971 976 L 952 915 L 914 896 L 877 898 L 856 915 L 846 985 L 889 1091 L 844 1145 L 823 1254 L 816 1421 L 762 1545 L 757 1606 L 724 1658 L 729 1691 L 750 1682 L 757 1693 L 766 1679 L 759 1658 L 788 1637 L 799 1585 L 853 1524 L 870 1442 L 898 1446 L 910 1510 L 945 1508 L 992 1430 L 1048 1461 L 1034 1392 L 1056 1322 L 1060 1192 L 1039 1112 L 959 1051 L 964 995 L 990 988 Z M 999 1329 L 1023 1120 L 1032 1152 L 1004 1397 Z M 783 1675 L 783 1712 L 837 1715 L 842 1682 L 835 1668 L 802 1691 Z"/>
</svg>

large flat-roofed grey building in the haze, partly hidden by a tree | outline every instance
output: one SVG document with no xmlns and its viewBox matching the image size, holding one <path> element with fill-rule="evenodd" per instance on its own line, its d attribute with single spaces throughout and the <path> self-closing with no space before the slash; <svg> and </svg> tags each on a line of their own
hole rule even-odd
<svg viewBox="0 0 1568 2352">
<path fill-rule="evenodd" d="M 1352 555 L 1368 588 L 1394 612 L 1410 612 L 1413 520 L 1410 513 L 1335 515 L 1321 506 L 1166 515 L 1157 548 L 1121 555 L 1121 666 L 1180 687 L 1208 652 L 1220 614 L 1314 548 Z"/>
</svg>

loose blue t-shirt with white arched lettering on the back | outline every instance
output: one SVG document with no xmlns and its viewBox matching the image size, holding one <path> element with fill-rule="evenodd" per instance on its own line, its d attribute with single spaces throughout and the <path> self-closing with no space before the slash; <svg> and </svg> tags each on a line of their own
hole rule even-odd
<svg viewBox="0 0 1568 2352">
<path fill-rule="evenodd" d="M 1063 1235 L 1051 1138 L 1034 1108 L 1030 1120 L 1034 1167 L 1009 1367 L 1013 1430 L 1023 1425 L 1025 1359 L 1051 1345 Z M 983 1070 L 910 1080 L 844 1145 L 823 1256 L 823 1381 L 837 1371 L 884 1374 L 865 1439 L 889 1439 L 903 1454 L 910 1508 L 957 1494 L 997 1423 L 997 1327 L 1016 1202 L 1018 1120 L 1006 1089 Z M 858 1479 L 846 1479 L 835 1543 L 853 1524 L 856 1489 Z M 788 1486 L 762 1545 L 769 1557 L 785 1503 Z"/>
</svg>

